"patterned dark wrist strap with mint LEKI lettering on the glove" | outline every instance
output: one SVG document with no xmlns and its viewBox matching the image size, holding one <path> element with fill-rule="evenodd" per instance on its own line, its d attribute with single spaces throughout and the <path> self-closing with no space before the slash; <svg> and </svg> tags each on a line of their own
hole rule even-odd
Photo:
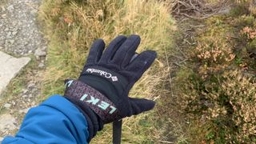
<svg viewBox="0 0 256 144">
<path fill-rule="evenodd" d="M 67 98 L 82 102 L 89 106 L 95 114 L 98 114 L 103 123 L 113 122 L 122 118 L 117 106 L 114 105 L 106 96 L 101 94 L 86 83 L 77 80 L 67 80 L 64 94 Z"/>
</svg>

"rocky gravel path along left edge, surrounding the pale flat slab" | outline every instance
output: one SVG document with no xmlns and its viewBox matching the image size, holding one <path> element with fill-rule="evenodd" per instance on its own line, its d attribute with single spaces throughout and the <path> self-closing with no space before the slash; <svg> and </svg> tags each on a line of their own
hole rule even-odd
<svg viewBox="0 0 256 144">
<path fill-rule="evenodd" d="M 37 105 L 41 94 L 40 78 L 46 59 L 46 41 L 37 23 L 41 1 L 0 0 L 0 50 L 18 57 L 30 56 L 36 65 L 18 76 L 22 79 L 18 94 L 8 98 L 15 90 L 9 87 L 0 97 L 0 141 L 7 134 L 14 134 L 26 111 Z"/>
</svg>

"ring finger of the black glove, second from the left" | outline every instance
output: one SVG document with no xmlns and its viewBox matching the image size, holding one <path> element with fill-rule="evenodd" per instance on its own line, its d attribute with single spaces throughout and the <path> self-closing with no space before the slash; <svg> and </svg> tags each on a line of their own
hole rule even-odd
<svg viewBox="0 0 256 144">
<path fill-rule="evenodd" d="M 123 42 L 126 41 L 126 37 L 123 35 L 119 35 L 117 38 L 114 38 L 110 45 L 106 48 L 104 53 L 102 54 L 102 58 L 100 59 L 100 63 L 106 63 L 110 61 L 111 58 L 114 57 L 115 52 L 118 50 L 118 47 L 122 45 Z"/>
</svg>

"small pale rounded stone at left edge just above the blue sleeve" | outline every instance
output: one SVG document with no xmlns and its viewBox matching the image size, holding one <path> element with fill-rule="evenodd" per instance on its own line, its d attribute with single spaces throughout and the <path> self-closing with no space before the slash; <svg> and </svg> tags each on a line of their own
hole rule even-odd
<svg viewBox="0 0 256 144">
<path fill-rule="evenodd" d="M 16 120 L 10 114 L 2 114 L 0 115 L 0 132 L 4 132 L 6 130 L 14 130 Z"/>
</svg>

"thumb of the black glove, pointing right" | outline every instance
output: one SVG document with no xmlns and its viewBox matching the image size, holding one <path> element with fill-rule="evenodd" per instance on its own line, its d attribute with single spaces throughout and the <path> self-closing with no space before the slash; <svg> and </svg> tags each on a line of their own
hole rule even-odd
<svg viewBox="0 0 256 144">
<path fill-rule="evenodd" d="M 145 98 L 129 98 L 132 115 L 140 114 L 144 111 L 152 110 L 155 102 Z"/>
</svg>

